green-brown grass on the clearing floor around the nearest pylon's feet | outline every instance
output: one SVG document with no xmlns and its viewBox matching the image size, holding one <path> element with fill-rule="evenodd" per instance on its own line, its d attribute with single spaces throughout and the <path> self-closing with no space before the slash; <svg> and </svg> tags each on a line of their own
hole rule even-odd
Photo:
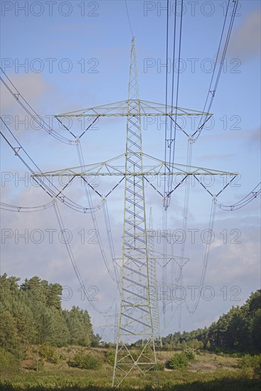
<svg viewBox="0 0 261 391">
<path fill-rule="evenodd" d="M 97 370 L 81 370 L 70 368 L 68 361 L 81 348 L 60 348 L 57 363 L 44 360 L 43 369 L 35 370 L 23 368 L 19 375 L 9 375 L 1 380 L 0 390 L 14 391 L 105 391 L 111 390 L 113 365 L 105 362 L 105 349 L 84 349 L 97 356 L 102 362 Z M 33 360 L 34 353 L 28 353 L 26 358 Z M 159 352 L 159 363 L 169 360 L 166 352 Z M 159 371 L 159 389 L 161 391 L 187 391 L 187 390 L 222 390 L 245 391 L 260 390 L 260 379 L 252 368 L 239 368 L 239 359 L 235 357 L 220 356 L 211 353 L 196 355 L 188 364 L 187 370 L 161 370 Z M 122 383 L 121 390 L 150 391 L 158 389 L 156 372 L 144 377 L 134 373 Z"/>
</svg>

